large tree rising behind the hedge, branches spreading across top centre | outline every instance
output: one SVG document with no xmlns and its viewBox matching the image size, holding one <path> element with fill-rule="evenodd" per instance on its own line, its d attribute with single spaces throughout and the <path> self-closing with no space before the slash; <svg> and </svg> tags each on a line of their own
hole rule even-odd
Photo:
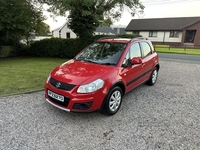
<svg viewBox="0 0 200 150">
<path fill-rule="evenodd" d="M 128 9 L 132 15 L 144 6 L 139 0 L 38 0 L 50 5 L 50 12 L 64 15 L 69 11 L 69 27 L 80 37 L 92 36 L 104 18 L 119 19 Z"/>
</svg>

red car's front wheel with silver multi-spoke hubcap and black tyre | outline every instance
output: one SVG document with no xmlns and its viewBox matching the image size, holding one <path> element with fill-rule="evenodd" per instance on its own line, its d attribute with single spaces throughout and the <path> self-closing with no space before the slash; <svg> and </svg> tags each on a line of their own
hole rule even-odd
<svg viewBox="0 0 200 150">
<path fill-rule="evenodd" d="M 122 103 L 123 92 L 118 86 L 112 88 L 106 96 L 102 112 L 106 115 L 114 115 Z"/>
</svg>

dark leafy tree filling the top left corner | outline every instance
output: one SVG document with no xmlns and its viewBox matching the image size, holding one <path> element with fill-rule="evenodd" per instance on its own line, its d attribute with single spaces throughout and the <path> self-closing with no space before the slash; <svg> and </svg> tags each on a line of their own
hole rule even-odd
<svg viewBox="0 0 200 150">
<path fill-rule="evenodd" d="M 42 10 L 29 0 L 0 0 L 0 14 L 1 45 L 38 33 L 38 24 L 44 20 Z"/>
</svg>

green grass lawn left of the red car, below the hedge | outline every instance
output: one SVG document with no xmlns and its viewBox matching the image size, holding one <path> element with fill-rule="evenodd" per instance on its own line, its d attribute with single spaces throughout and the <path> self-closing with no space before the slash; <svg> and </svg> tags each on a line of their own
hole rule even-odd
<svg viewBox="0 0 200 150">
<path fill-rule="evenodd" d="M 0 95 L 43 89 L 49 72 L 66 59 L 0 59 Z"/>
</svg>

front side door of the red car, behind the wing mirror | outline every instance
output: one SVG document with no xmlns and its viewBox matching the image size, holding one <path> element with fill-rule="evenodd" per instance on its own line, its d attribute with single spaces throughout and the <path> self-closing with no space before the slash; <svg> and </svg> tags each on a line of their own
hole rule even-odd
<svg viewBox="0 0 200 150">
<path fill-rule="evenodd" d="M 141 49 L 139 43 L 134 43 L 130 46 L 128 53 L 126 54 L 123 62 L 122 78 L 126 84 L 126 92 L 130 91 L 137 85 L 143 82 L 143 66 L 141 64 L 130 64 L 130 60 L 133 57 L 141 58 Z"/>
</svg>

